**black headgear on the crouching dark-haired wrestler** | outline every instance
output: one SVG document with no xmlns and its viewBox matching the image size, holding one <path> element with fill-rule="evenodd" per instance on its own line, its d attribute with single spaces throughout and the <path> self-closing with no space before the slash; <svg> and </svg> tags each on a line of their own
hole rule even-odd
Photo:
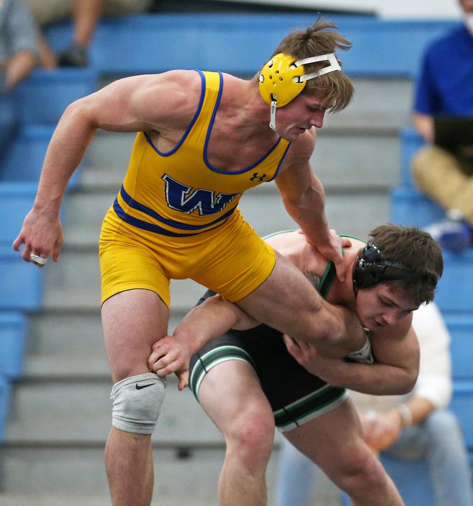
<svg viewBox="0 0 473 506">
<path fill-rule="evenodd" d="M 404 272 L 386 274 L 384 272 L 386 267 L 393 267 Z M 422 277 L 423 273 L 414 272 L 404 264 L 384 260 L 379 248 L 369 241 L 356 259 L 353 268 L 353 289 L 356 293 L 360 288 L 369 288 L 382 281 L 420 279 Z"/>
</svg>

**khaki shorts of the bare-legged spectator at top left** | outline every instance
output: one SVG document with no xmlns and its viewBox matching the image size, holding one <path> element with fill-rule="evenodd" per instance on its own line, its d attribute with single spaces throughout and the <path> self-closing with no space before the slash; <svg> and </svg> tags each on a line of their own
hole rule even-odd
<svg viewBox="0 0 473 506">
<path fill-rule="evenodd" d="M 40 26 L 64 21 L 71 17 L 73 0 L 25 0 Z M 146 11 L 151 0 L 103 0 L 102 15 L 124 16 L 126 14 L 139 14 Z"/>
</svg>

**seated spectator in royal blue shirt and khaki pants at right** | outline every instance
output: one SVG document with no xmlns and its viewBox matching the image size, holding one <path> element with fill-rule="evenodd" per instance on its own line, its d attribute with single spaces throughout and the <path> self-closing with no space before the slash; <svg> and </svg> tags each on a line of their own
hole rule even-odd
<svg viewBox="0 0 473 506">
<path fill-rule="evenodd" d="M 473 118 L 473 0 L 460 0 L 464 26 L 435 41 L 424 56 L 414 104 L 414 127 L 428 146 L 412 160 L 414 179 L 442 205 L 447 219 L 427 229 L 446 248 L 471 243 L 473 146 L 447 150 L 433 145 L 434 117 Z"/>
</svg>

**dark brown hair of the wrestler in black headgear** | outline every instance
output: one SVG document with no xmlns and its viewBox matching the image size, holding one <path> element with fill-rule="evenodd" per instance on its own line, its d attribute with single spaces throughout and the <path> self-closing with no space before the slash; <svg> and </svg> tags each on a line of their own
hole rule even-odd
<svg viewBox="0 0 473 506">
<path fill-rule="evenodd" d="M 394 290 L 406 293 L 417 305 L 432 302 L 437 281 L 444 268 L 442 251 L 437 241 L 417 227 L 393 224 L 376 227 L 369 235 L 384 260 L 399 262 L 410 271 L 421 275 L 416 279 L 383 282 L 390 284 Z M 389 266 L 386 266 L 385 272 L 399 273 L 397 269 Z"/>
</svg>

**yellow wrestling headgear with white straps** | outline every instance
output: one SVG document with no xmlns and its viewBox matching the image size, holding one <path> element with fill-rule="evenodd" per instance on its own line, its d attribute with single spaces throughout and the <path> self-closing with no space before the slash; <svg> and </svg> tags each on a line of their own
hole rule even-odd
<svg viewBox="0 0 473 506">
<path fill-rule="evenodd" d="M 304 64 L 328 61 L 330 65 L 316 72 L 305 74 Z M 309 79 L 319 75 L 341 70 L 333 53 L 311 56 L 303 60 L 296 60 L 293 56 L 278 53 L 266 63 L 260 74 L 260 94 L 263 100 L 271 106 L 271 120 L 269 126 L 276 131 L 276 108 L 283 107 L 304 90 Z"/>
</svg>

